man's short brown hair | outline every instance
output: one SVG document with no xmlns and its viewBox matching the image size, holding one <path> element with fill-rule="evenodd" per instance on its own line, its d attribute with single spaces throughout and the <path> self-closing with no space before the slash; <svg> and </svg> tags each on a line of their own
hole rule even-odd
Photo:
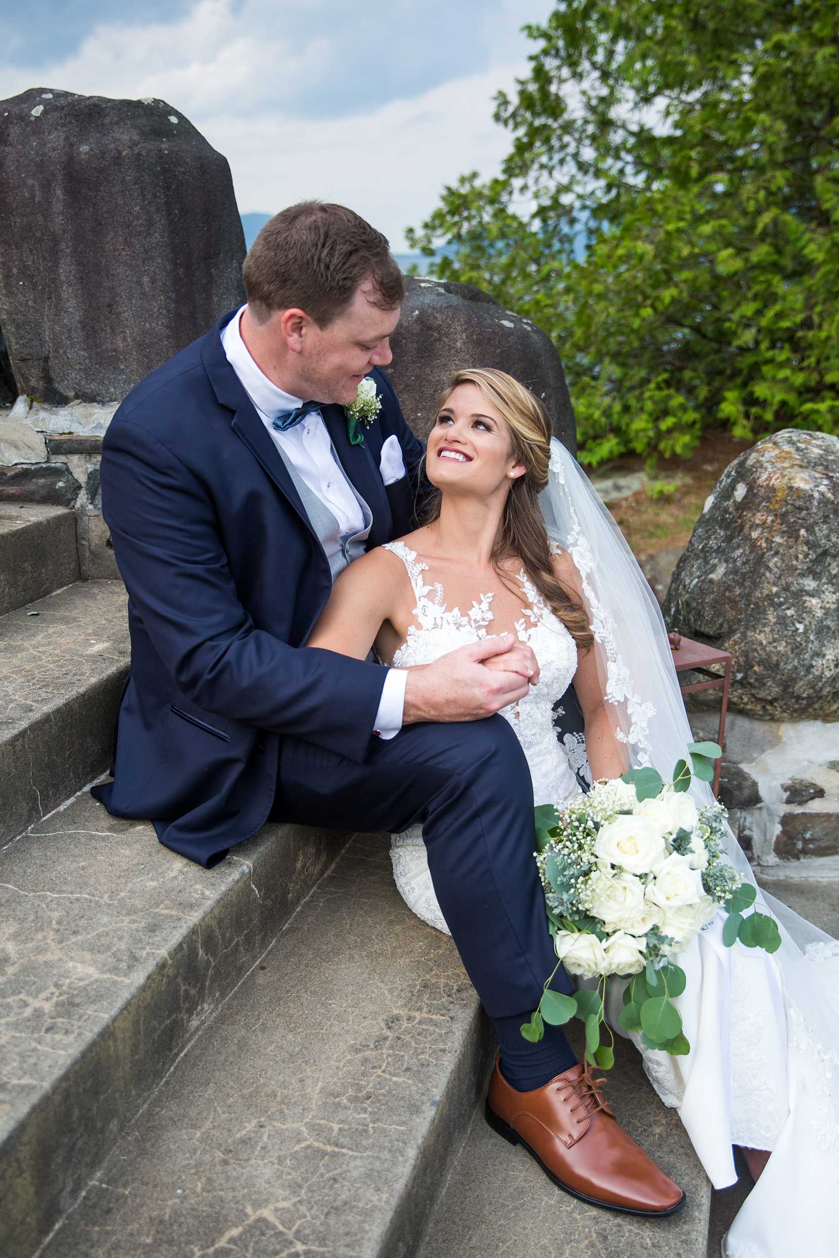
<svg viewBox="0 0 839 1258">
<path fill-rule="evenodd" d="M 394 309 L 405 296 L 387 238 L 346 205 L 321 201 L 289 205 L 265 223 L 242 274 L 248 304 L 260 323 L 274 311 L 298 307 L 326 327 L 367 278 L 381 309 Z"/>
</svg>

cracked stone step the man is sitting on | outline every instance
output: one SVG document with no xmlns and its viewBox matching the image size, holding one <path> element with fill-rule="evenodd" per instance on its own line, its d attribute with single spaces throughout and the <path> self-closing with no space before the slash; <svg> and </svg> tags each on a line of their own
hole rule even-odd
<svg viewBox="0 0 839 1258">
<path fill-rule="evenodd" d="M 214 869 L 87 793 L 0 850 L 0 1253 L 29 1258 L 348 835 Z"/>
</svg>

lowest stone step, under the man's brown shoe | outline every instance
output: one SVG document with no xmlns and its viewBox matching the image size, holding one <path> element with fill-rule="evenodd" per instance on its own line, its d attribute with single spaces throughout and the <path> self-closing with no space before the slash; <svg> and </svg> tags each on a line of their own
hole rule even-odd
<svg viewBox="0 0 839 1258">
<path fill-rule="evenodd" d="M 581 1030 L 576 1019 L 569 1027 L 579 1057 Z M 621 1125 L 687 1194 L 678 1214 L 638 1219 L 577 1201 L 521 1146 L 501 1140 L 479 1107 L 418 1258 L 706 1258 L 711 1183 L 678 1113 L 662 1105 L 628 1040 L 618 1039 L 615 1064 L 605 1073 Z"/>
</svg>

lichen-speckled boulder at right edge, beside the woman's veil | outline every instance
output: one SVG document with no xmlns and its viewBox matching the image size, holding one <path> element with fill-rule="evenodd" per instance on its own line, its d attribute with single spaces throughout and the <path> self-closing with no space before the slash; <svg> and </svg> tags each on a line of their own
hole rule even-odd
<svg viewBox="0 0 839 1258">
<path fill-rule="evenodd" d="M 673 572 L 664 618 L 732 653 L 733 711 L 772 721 L 839 717 L 836 537 L 836 437 L 776 433 L 714 486 Z"/>
</svg>

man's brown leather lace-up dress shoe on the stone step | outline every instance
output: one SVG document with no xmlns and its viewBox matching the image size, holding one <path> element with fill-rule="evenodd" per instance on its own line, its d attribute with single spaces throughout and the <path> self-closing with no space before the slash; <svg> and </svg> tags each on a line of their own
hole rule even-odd
<svg viewBox="0 0 839 1258">
<path fill-rule="evenodd" d="M 590 1069 L 572 1066 L 535 1092 L 516 1092 L 492 1072 L 487 1122 L 523 1145 L 557 1188 L 591 1205 L 665 1218 L 687 1198 L 620 1127 Z"/>
</svg>

